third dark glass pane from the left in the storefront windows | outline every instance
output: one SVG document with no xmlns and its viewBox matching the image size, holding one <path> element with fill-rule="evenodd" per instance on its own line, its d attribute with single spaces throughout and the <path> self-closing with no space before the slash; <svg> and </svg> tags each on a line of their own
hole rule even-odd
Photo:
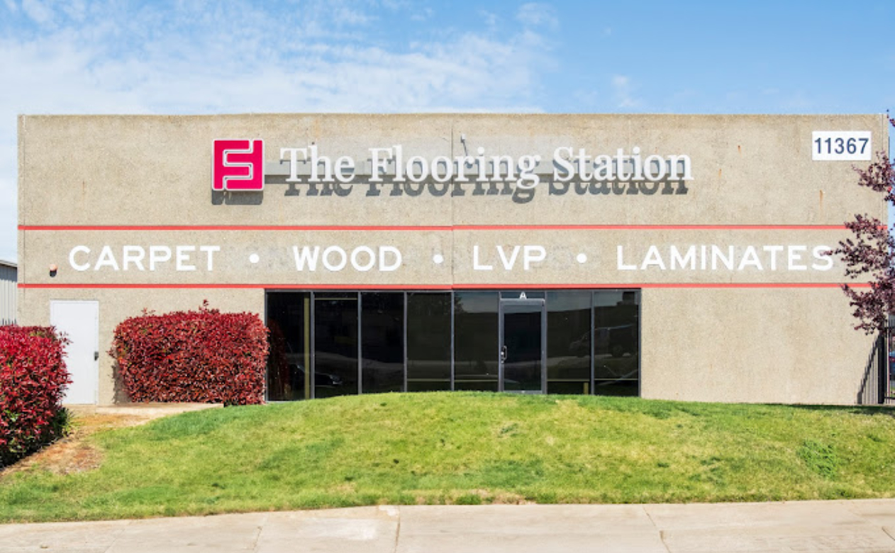
<svg viewBox="0 0 895 553">
<path fill-rule="evenodd" d="M 361 293 L 362 393 L 404 389 L 404 294 Z"/>
</svg>

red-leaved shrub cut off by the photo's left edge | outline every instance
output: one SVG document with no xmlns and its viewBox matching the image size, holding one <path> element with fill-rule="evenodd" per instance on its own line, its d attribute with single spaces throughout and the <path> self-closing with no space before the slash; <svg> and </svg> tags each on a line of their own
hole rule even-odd
<svg viewBox="0 0 895 553">
<path fill-rule="evenodd" d="M 0 467 L 64 432 L 66 344 L 53 327 L 0 327 Z"/>
</svg>

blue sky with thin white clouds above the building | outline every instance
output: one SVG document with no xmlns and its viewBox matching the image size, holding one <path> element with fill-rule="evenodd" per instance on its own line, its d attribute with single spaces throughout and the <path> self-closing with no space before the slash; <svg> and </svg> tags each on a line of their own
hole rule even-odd
<svg viewBox="0 0 895 553">
<path fill-rule="evenodd" d="M 895 110 L 895 2 L 0 0 L 0 259 L 18 114 Z"/>
</svg>

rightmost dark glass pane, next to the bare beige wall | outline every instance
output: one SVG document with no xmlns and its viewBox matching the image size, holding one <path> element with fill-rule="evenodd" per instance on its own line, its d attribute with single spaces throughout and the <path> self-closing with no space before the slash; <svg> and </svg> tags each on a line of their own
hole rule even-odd
<svg viewBox="0 0 895 553">
<path fill-rule="evenodd" d="M 593 293 L 593 393 L 636 396 L 640 381 L 640 293 Z"/>
</svg>

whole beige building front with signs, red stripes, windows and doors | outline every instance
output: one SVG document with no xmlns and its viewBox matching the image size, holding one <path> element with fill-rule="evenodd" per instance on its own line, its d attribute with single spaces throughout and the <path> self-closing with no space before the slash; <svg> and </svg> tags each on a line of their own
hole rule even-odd
<svg viewBox="0 0 895 553">
<path fill-rule="evenodd" d="M 887 124 L 21 116 L 20 321 L 75 336 L 71 403 L 126 399 L 121 320 L 203 300 L 266 321 L 272 401 L 874 403 L 887 377 L 829 250 L 854 214 L 885 220 L 853 167 Z"/>
</svg>

